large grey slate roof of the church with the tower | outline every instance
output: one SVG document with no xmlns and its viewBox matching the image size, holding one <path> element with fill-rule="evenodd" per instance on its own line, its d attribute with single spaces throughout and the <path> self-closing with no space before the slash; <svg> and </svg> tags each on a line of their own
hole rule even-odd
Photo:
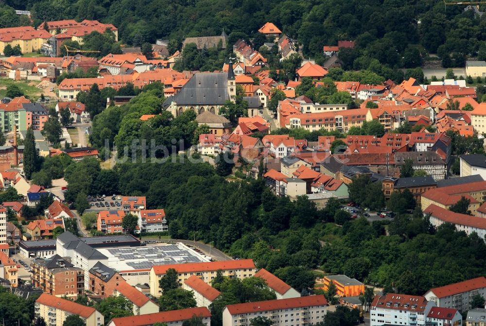
<svg viewBox="0 0 486 326">
<path fill-rule="evenodd" d="M 226 72 L 195 73 L 177 94 L 167 98 L 164 106 L 171 102 L 187 106 L 224 105 L 229 100 L 227 80 Z"/>
</svg>

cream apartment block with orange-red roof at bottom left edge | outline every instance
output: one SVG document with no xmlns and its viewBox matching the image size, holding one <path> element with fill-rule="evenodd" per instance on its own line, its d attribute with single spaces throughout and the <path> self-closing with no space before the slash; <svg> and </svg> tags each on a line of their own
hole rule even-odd
<svg viewBox="0 0 486 326">
<path fill-rule="evenodd" d="M 64 321 L 70 315 L 78 315 L 86 326 L 102 326 L 104 317 L 95 308 L 86 307 L 71 300 L 42 293 L 35 300 L 35 318 L 42 317 L 47 326 L 63 326 Z"/>
</svg>

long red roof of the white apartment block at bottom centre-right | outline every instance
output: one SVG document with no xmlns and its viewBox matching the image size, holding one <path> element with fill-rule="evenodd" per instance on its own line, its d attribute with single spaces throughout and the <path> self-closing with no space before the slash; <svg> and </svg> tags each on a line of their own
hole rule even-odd
<svg viewBox="0 0 486 326">
<path fill-rule="evenodd" d="M 326 306 L 328 301 L 324 295 L 309 295 L 299 298 L 257 301 L 228 305 L 226 308 L 232 315 L 248 312 L 268 311 L 287 308 L 302 308 L 312 306 Z"/>
</svg>

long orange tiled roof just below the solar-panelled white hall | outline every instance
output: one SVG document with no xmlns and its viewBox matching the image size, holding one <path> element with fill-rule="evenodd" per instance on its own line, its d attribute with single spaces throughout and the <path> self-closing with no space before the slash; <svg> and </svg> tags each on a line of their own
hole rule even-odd
<svg viewBox="0 0 486 326">
<path fill-rule="evenodd" d="M 241 260 L 224 260 L 224 261 L 212 261 L 207 263 L 186 263 L 186 264 L 171 264 L 171 265 L 156 265 L 152 266 L 156 275 L 162 275 L 167 272 L 168 269 L 173 268 L 179 273 L 186 272 L 207 272 L 217 270 L 237 270 L 242 268 L 255 268 L 255 264 L 252 259 Z"/>
</svg>

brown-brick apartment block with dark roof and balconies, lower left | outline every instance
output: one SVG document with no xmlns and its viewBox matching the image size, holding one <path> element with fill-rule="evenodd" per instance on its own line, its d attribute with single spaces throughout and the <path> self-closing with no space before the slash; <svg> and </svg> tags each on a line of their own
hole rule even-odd
<svg viewBox="0 0 486 326">
<path fill-rule="evenodd" d="M 49 259 L 35 258 L 31 264 L 32 285 L 54 296 L 76 298 L 85 292 L 85 275 L 58 254 Z"/>
</svg>

